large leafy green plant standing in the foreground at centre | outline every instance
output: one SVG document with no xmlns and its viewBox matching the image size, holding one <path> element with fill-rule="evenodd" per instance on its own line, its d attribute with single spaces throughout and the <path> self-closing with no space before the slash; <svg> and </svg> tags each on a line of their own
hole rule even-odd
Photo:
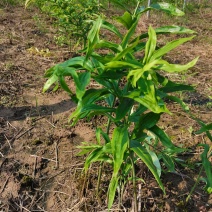
<svg viewBox="0 0 212 212">
<path fill-rule="evenodd" d="M 126 28 L 126 33 L 98 17 L 88 33 L 85 56 L 71 58 L 46 71 L 43 91 L 58 84 L 76 102 L 76 110 L 71 114 L 71 125 L 80 119 L 105 116 L 106 126 L 96 129 L 96 141 L 83 142 L 79 146 L 80 155 L 87 154 L 85 172 L 94 162 L 111 165 L 113 170 L 108 188 L 108 208 L 112 207 L 116 191 L 121 202 L 126 182 L 132 181 L 134 187 L 135 211 L 136 182 L 135 164 L 142 161 L 153 174 L 165 193 L 160 179 L 162 171 L 174 171 L 175 157 L 184 149 L 175 146 L 169 136 L 159 126 L 163 113 L 172 114 L 166 101 L 179 103 L 183 109 L 189 108 L 174 94 L 193 87 L 175 83 L 163 76 L 163 72 L 179 73 L 191 68 L 197 59 L 185 65 L 170 64 L 163 59 L 169 51 L 190 41 L 194 36 L 173 40 L 163 47 L 157 46 L 159 34 L 192 34 L 192 30 L 179 26 L 164 26 L 147 33 L 136 35 L 135 30 L 140 16 L 148 10 L 160 10 L 172 15 L 184 13 L 167 3 L 157 3 L 150 7 L 140 7 L 138 1 L 135 11 L 126 11 L 117 22 Z M 101 31 L 108 30 L 120 43 L 104 40 Z M 106 53 L 102 53 L 104 50 Z M 138 58 L 136 55 L 142 55 Z M 65 78 L 71 77 L 75 89 L 70 89 Z M 95 81 L 99 86 L 88 87 Z M 166 168 L 162 168 L 161 163 Z M 164 167 L 163 166 L 163 167 Z M 99 188 L 99 184 L 97 188 Z M 98 194 L 98 192 L 97 192 Z"/>
</svg>

